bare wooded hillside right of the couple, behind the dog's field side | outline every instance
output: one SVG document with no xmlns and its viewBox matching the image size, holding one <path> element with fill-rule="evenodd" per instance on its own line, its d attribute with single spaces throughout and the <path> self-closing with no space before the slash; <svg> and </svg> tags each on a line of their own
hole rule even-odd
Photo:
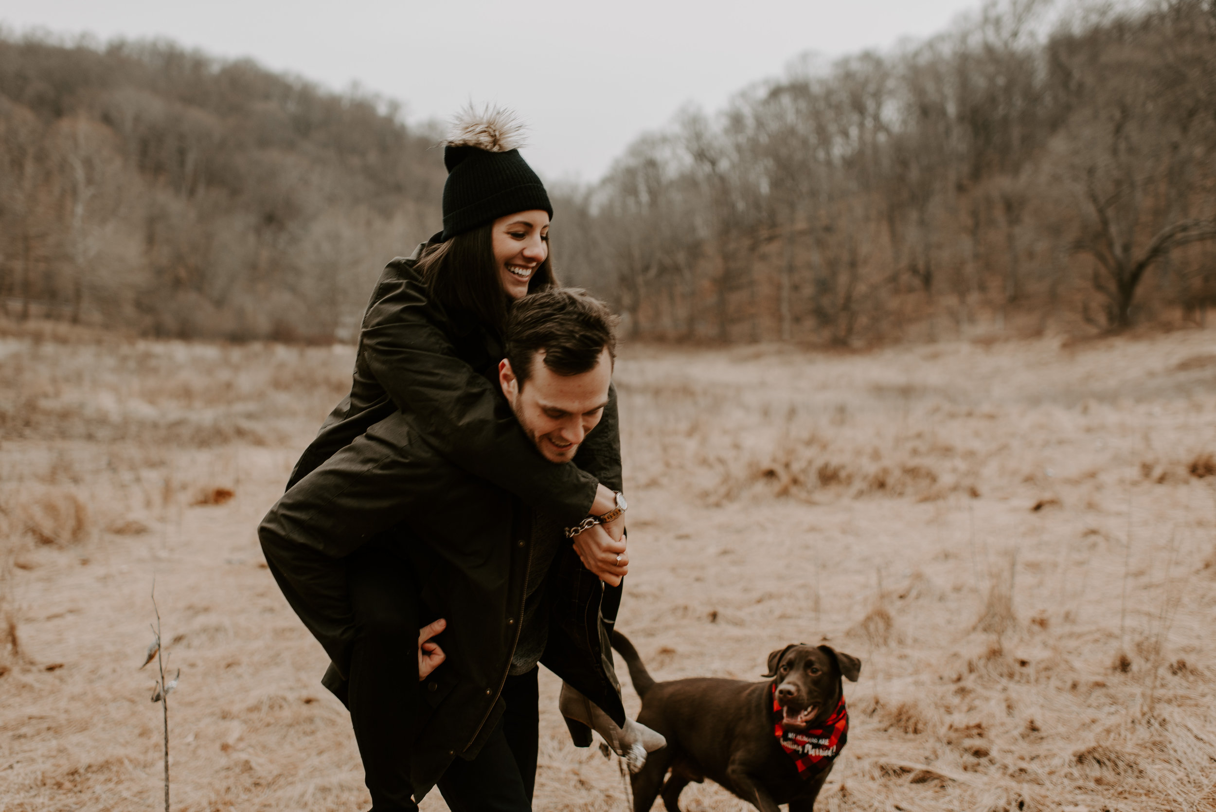
<svg viewBox="0 0 1216 812">
<path fill-rule="evenodd" d="M 641 335 L 848 344 L 1201 320 L 1216 2 L 990 4 L 897 53 L 685 112 L 582 209 L 576 276 L 613 278 Z"/>
</svg>

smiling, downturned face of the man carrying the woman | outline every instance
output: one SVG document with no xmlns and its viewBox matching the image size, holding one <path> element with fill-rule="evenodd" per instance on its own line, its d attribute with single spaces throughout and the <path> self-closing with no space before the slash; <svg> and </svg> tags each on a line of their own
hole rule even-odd
<svg viewBox="0 0 1216 812">
<path fill-rule="evenodd" d="M 533 356 L 528 382 L 519 379 L 506 359 L 499 363 L 499 383 L 524 433 L 550 462 L 569 462 L 579 445 L 603 417 L 612 383 L 612 356 L 604 349 L 595 367 L 575 376 L 557 374 L 545 366 L 545 351 Z"/>
</svg>

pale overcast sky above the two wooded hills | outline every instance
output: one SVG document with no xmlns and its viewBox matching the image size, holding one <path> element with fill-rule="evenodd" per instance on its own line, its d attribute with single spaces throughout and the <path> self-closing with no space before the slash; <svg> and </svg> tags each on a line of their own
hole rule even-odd
<svg viewBox="0 0 1216 812">
<path fill-rule="evenodd" d="M 0 23 L 102 39 L 167 36 L 249 56 L 332 89 L 353 81 L 446 118 L 513 107 L 548 180 L 597 180 L 686 103 L 717 109 L 806 51 L 888 49 L 938 33 L 976 0 L 0 0 Z"/>
</svg>

